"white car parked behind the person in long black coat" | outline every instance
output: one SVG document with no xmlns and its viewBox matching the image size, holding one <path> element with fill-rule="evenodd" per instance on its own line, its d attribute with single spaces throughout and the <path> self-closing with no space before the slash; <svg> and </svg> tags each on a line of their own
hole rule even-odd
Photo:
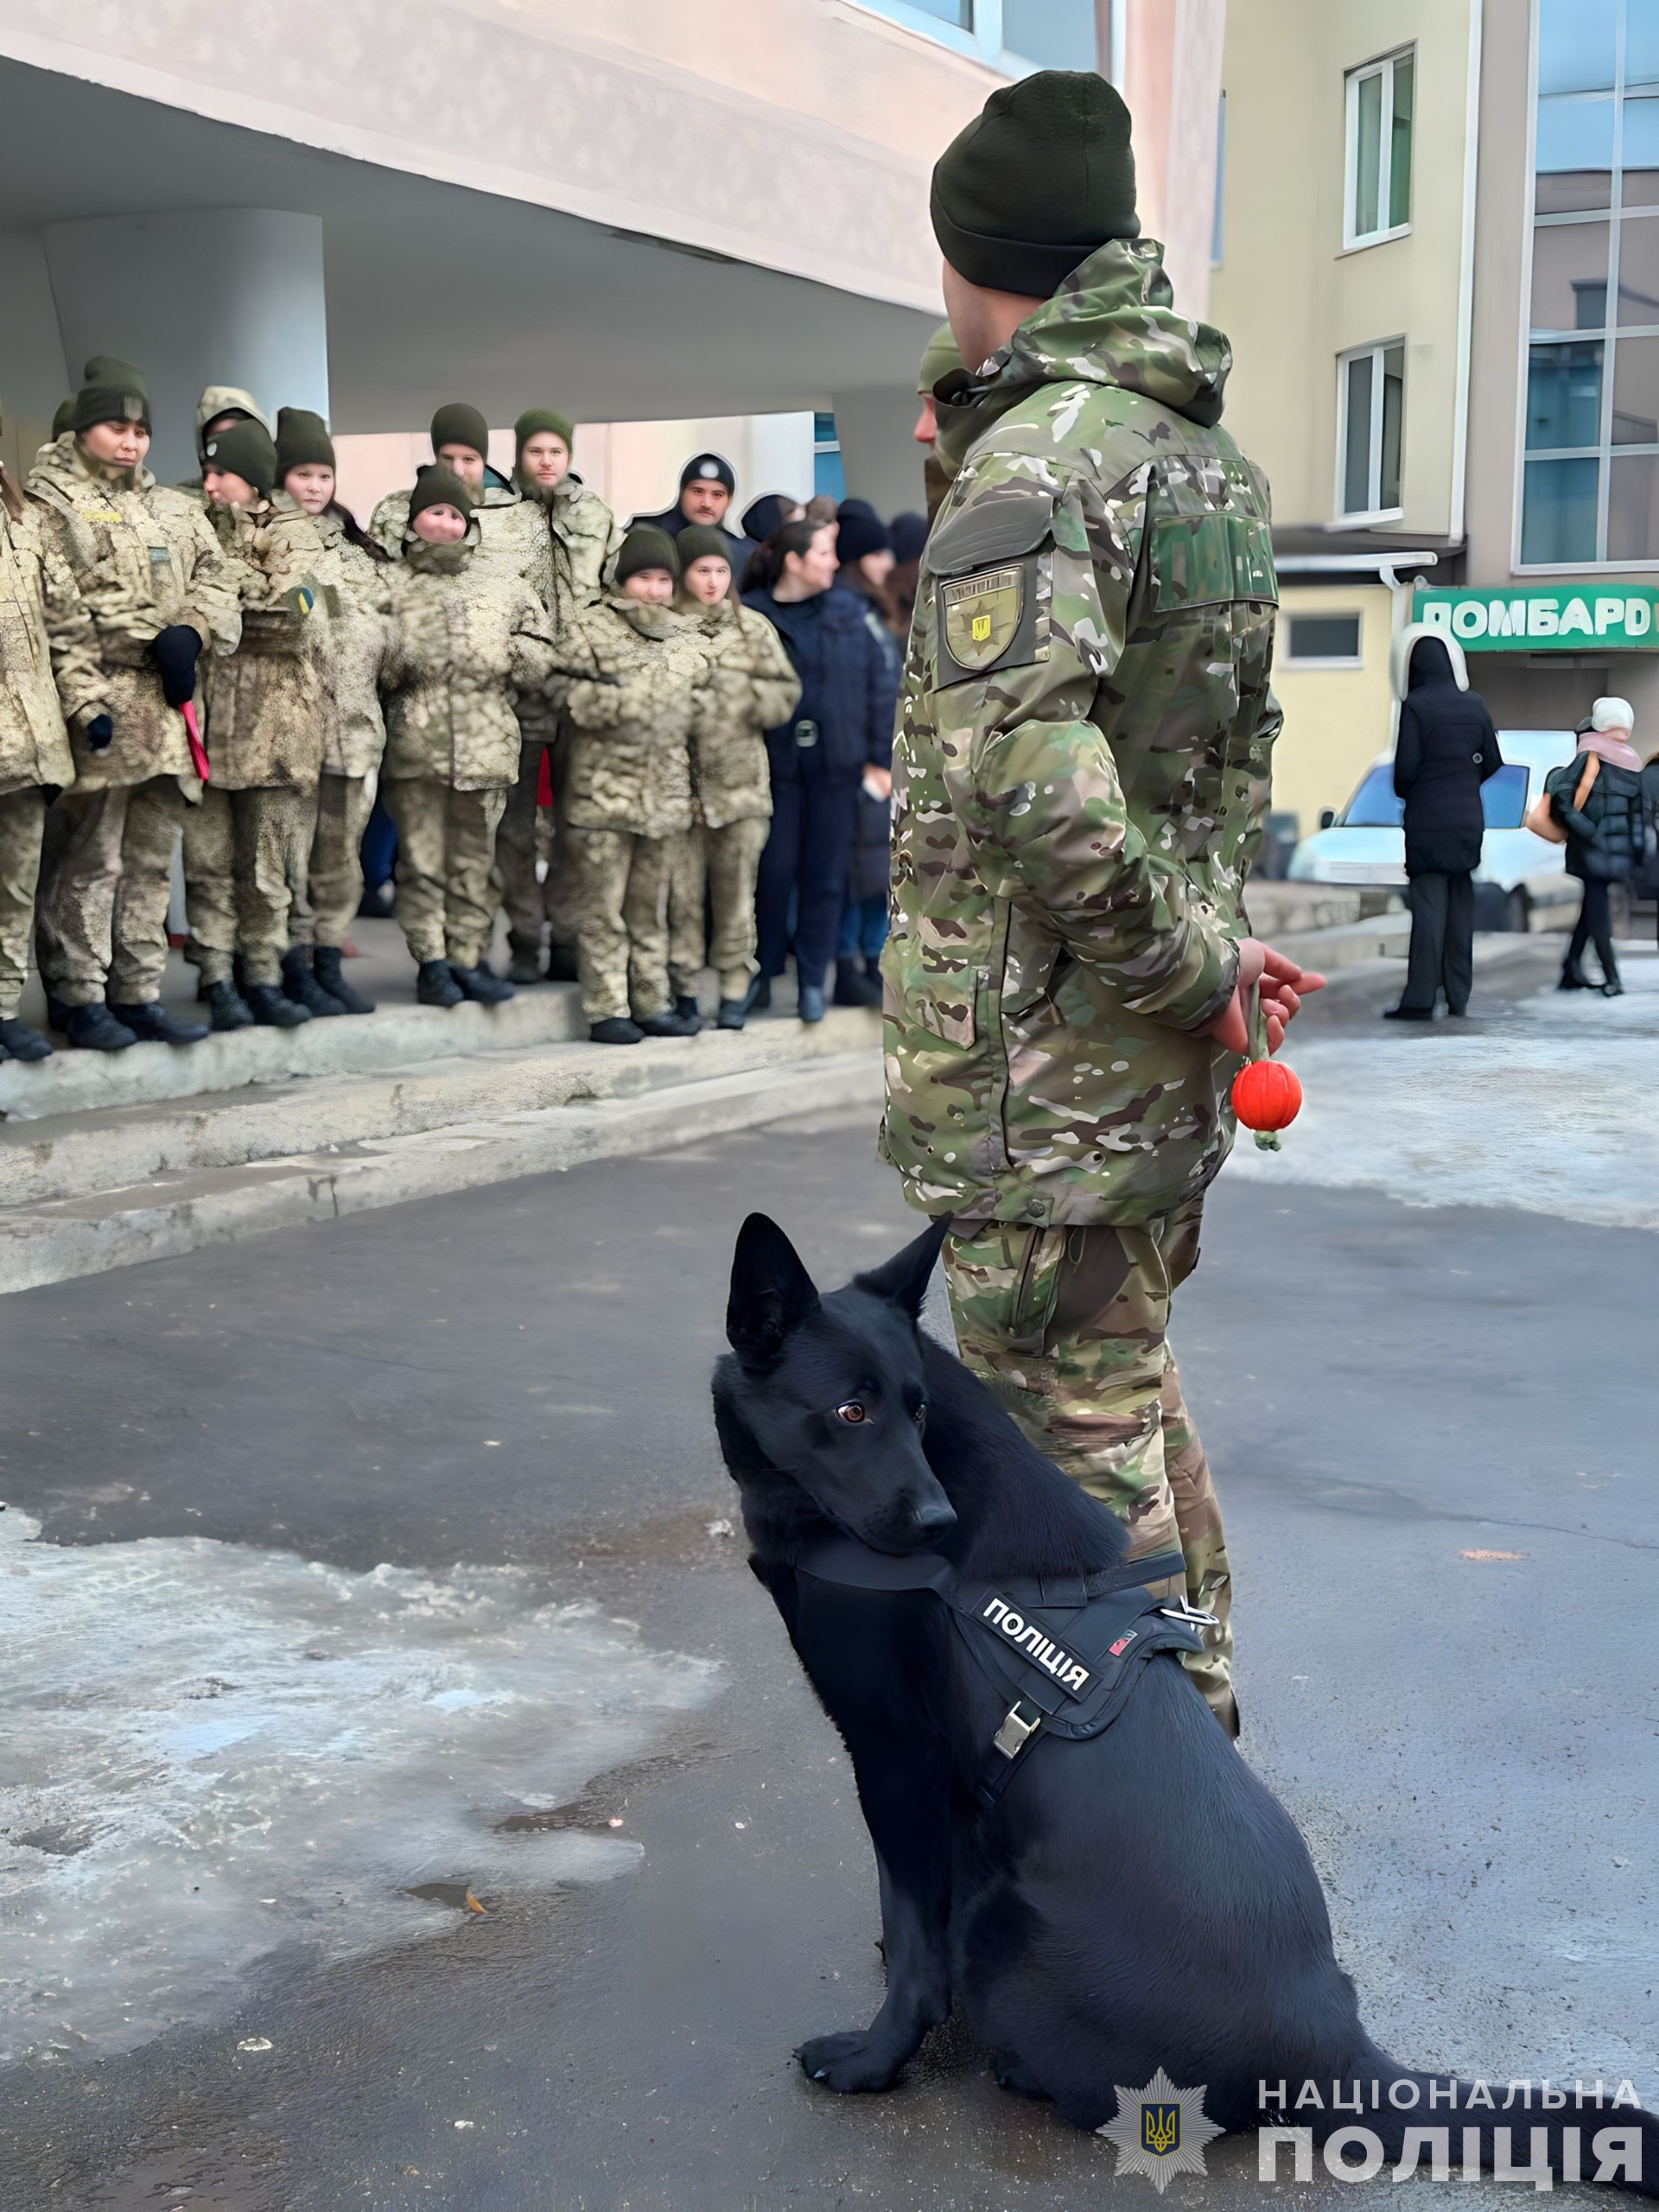
<svg viewBox="0 0 1659 2212">
<path fill-rule="evenodd" d="M 1575 907 L 1566 847 L 1522 827 L 1544 776 L 1577 752 L 1573 730 L 1500 730 L 1504 765 L 1480 787 L 1486 836 L 1475 869 L 1475 929 L 1531 929 L 1546 907 Z M 1405 801 L 1394 792 L 1394 754 L 1380 752 L 1360 787 L 1290 858 L 1292 883 L 1363 883 L 1405 889 Z M 1555 916 L 1551 916 L 1557 920 Z"/>
</svg>

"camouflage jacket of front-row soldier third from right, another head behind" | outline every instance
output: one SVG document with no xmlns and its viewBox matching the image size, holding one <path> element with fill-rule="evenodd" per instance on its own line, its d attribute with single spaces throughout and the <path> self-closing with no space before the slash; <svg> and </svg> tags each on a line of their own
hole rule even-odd
<svg viewBox="0 0 1659 2212">
<path fill-rule="evenodd" d="M 553 675 L 553 630 L 531 586 L 478 544 L 478 515 L 453 546 L 409 540 L 387 568 L 392 653 L 383 776 L 427 776 L 458 792 L 518 783 L 515 692 Z"/>
</svg>

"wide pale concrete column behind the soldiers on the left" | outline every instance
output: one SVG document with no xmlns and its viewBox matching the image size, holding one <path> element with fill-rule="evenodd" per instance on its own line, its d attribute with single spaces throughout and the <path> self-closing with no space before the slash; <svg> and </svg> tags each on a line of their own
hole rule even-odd
<svg viewBox="0 0 1659 2212">
<path fill-rule="evenodd" d="M 93 215 L 46 223 L 44 239 L 71 380 L 88 354 L 144 369 L 164 484 L 197 473 L 204 385 L 241 385 L 272 420 L 279 407 L 327 416 L 321 217 Z"/>
</svg>

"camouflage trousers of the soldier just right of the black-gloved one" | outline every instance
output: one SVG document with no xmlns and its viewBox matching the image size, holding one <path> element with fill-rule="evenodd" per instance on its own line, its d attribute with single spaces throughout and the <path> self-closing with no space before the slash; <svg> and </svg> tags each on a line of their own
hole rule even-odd
<svg viewBox="0 0 1659 2212">
<path fill-rule="evenodd" d="M 184 825 L 184 907 L 204 982 L 230 982 L 237 956 L 248 982 L 283 980 L 290 883 L 305 872 L 314 825 L 314 790 L 206 787 Z"/>
</svg>

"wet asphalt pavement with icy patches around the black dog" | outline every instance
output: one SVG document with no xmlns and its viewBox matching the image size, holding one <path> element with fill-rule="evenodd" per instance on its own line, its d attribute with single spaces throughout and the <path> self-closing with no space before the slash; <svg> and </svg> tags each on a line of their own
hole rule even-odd
<svg viewBox="0 0 1659 2212">
<path fill-rule="evenodd" d="M 1652 1232 L 1256 1166 L 1177 1318 L 1243 1754 L 1387 2048 L 1652 2104 Z M 1150 2203 L 956 2028 L 792 2062 L 878 1911 L 708 1413 L 752 1208 L 914 1228 L 825 1119 L 4 1303 L 4 2212 Z"/>
</svg>

